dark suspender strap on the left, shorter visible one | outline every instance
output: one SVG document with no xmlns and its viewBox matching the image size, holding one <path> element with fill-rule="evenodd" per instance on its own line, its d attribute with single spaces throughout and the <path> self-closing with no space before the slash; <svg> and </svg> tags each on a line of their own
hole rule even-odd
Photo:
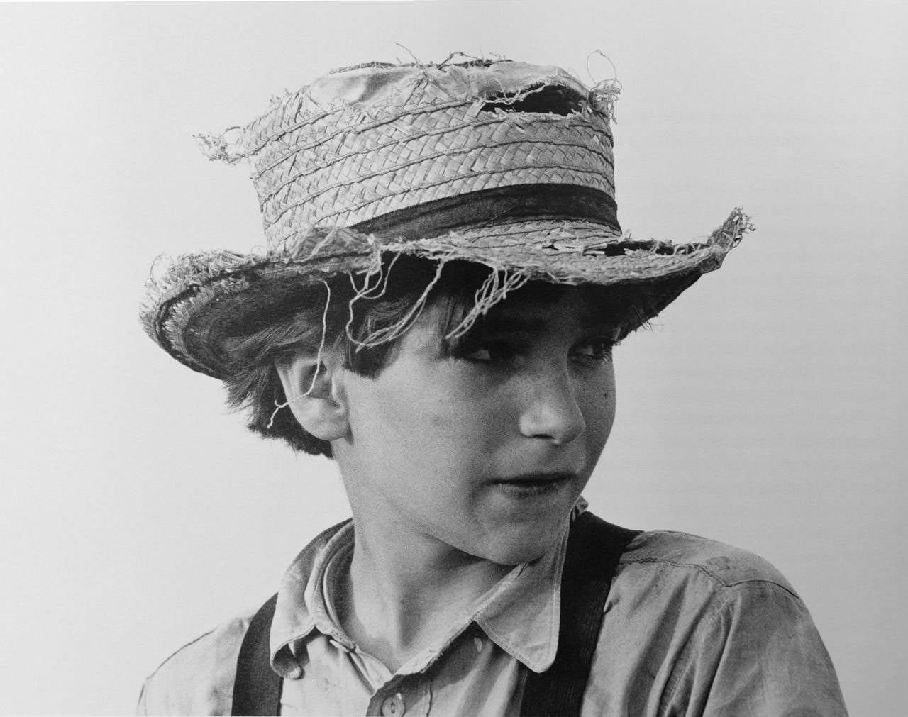
<svg viewBox="0 0 908 717">
<path fill-rule="evenodd" d="M 279 714 L 281 712 L 281 675 L 271 669 L 271 618 L 275 594 L 259 608 L 242 638 L 240 657 L 233 680 L 231 714 Z"/>
</svg>

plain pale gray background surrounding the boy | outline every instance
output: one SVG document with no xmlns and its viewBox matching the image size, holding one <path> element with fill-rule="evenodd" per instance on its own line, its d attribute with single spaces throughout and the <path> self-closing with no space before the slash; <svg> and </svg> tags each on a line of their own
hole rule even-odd
<svg viewBox="0 0 908 717">
<path fill-rule="evenodd" d="M 619 218 L 758 231 L 617 349 L 601 516 L 795 584 L 855 715 L 908 701 L 903 4 L 0 6 L 0 711 L 131 712 L 144 677 L 347 515 L 143 336 L 156 255 L 262 242 L 192 133 L 332 67 L 458 50 L 612 73 Z"/>
</svg>

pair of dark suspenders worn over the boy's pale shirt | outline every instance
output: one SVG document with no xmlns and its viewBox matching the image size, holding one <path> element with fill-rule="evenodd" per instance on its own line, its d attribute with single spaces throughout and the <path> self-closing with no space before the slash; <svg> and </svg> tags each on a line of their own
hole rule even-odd
<svg viewBox="0 0 908 717">
<path fill-rule="evenodd" d="M 591 513 L 574 520 L 561 574 L 558 653 L 544 673 L 529 673 L 520 714 L 578 715 L 599 625 L 618 559 L 639 531 L 611 525 Z M 252 618 L 242 640 L 233 681 L 231 714 L 281 711 L 281 676 L 271 669 L 271 618 L 277 595 Z"/>
</svg>

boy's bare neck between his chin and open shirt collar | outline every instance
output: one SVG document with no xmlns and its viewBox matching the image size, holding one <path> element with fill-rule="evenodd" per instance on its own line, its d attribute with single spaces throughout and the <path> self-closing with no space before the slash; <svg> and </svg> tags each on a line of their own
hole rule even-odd
<svg viewBox="0 0 908 717">
<path fill-rule="evenodd" d="M 439 540 L 413 540 L 387 523 L 353 522 L 350 571 L 335 586 L 335 610 L 350 638 L 392 673 L 441 639 L 512 568 Z"/>
</svg>

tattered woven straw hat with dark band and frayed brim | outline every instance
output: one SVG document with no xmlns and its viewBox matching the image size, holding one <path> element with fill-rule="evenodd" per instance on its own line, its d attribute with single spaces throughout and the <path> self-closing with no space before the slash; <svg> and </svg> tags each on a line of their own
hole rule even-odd
<svg viewBox="0 0 908 717">
<path fill-rule="evenodd" d="M 527 280 L 652 282 L 656 315 L 751 227 L 735 210 L 705 241 L 623 235 L 616 96 L 614 82 L 590 89 L 558 67 L 510 61 L 371 63 L 321 77 L 252 123 L 201 138 L 211 159 L 250 162 L 267 245 L 157 262 L 143 327 L 221 377 L 224 339 L 339 274 L 368 290 L 393 254 L 498 270 L 484 309 Z"/>
</svg>

